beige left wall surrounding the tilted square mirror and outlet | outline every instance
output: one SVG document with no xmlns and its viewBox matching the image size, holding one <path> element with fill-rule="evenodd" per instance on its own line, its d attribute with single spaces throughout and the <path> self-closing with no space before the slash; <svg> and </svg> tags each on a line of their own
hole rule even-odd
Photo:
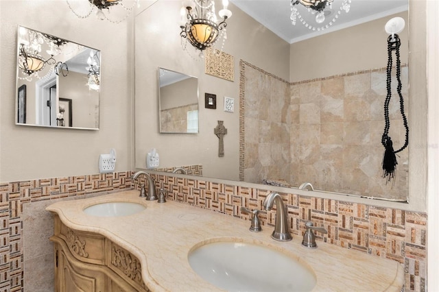
<svg viewBox="0 0 439 292">
<path fill-rule="evenodd" d="M 132 169 L 132 19 L 78 19 L 63 0 L 0 1 L 0 7 L 0 181 L 99 173 L 99 154 L 110 148 L 117 150 L 116 171 Z M 102 50 L 100 130 L 14 124 L 18 25 Z"/>
</svg>

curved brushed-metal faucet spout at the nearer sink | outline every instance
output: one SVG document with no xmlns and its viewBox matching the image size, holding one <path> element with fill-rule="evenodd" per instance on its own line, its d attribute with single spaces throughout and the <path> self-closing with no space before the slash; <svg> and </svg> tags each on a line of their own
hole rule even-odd
<svg viewBox="0 0 439 292">
<path fill-rule="evenodd" d="M 274 202 L 276 202 L 276 219 L 272 239 L 276 241 L 290 241 L 293 237 L 288 231 L 287 212 L 281 195 L 275 192 L 268 194 L 263 201 L 263 208 L 267 211 L 271 210 Z"/>
</svg>

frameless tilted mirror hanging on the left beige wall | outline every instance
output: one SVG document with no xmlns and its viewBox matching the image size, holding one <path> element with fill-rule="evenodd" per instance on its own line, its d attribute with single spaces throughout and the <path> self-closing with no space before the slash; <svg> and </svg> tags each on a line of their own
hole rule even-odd
<svg viewBox="0 0 439 292">
<path fill-rule="evenodd" d="M 101 52 L 19 26 L 16 125 L 99 128 Z"/>
</svg>

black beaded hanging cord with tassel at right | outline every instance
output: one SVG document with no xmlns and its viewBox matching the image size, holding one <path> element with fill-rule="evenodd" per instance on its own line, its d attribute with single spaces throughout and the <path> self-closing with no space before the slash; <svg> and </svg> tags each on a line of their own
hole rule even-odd
<svg viewBox="0 0 439 292">
<path fill-rule="evenodd" d="M 407 145 L 409 145 L 409 126 L 407 123 L 407 117 L 405 117 L 404 113 L 404 99 L 403 95 L 401 94 L 401 62 L 399 60 L 399 47 L 401 46 L 401 40 L 399 39 L 399 36 L 397 34 L 392 34 L 388 37 L 387 40 L 388 43 L 388 63 L 387 63 L 387 96 L 385 97 L 384 102 L 384 119 L 385 119 L 385 127 L 383 136 L 381 137 L 381 144 L 383 144 L 385 151 L 384 151 L 384 158 L 383 158 L 383 178 L 386 179 L 386 183 L 390 182 L 390 180 L 394 179 L 394 175 L 396 172 L 396 165 L 398 165 L 398 162 L 396 161 L 396 154 L 400 151 L 403 151 Z M 399 95 L 399 108 L 401 111 L 401 117 L 403 118 L 403 123 L 405 127 L 405 143 L 401 149 L 398 149 L 394 151 L 393 149 L 393 143 L 392 139 L 389 134 L 389 128 L 390 128 L 390 119 L 389 119 L 389 103 L 390 98 L 392 97 L 391 92 L 391 83 L 392 83 L 392 51 L 395 51 L 396 54 L 396 80 L 398 81 L 398 86 L 396 90 L 398 91 Z"/>
</svg>

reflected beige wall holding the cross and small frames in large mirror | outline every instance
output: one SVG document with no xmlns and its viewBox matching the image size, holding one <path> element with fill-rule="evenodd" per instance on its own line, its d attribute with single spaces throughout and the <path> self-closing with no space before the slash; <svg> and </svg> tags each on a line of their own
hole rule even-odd
<svg viewBox="0 0 439 292">
<path fill-rule="evenodd" d="M 215 5 L 217 10 L 222 7 L 220 1 Z M 145 168 L 147 152 L 156 148 L 160 154 L 160 168 L 200 164 L 206 177 L 238 180 L 239 60 L 251 62 L 287 80 L 289 64 L 284 61 L 289 58 L 289 44 L 230 5 L 233 16 L 227 21 L 224 52 L 235 58 L 235 81 L 206 75 L 204 60 L 189 56 L 180 45 L 180 8 L 181 1 L 158 1 L 136 17 L 135 167 Z M 220 39 L 219 47 L 221 42 Z M 159 66 L 198 77 L 198 134 L 158 134 L 156 71 Z M 204 108 L 204 93 L 217 95 L 216 110 Z M 235 112 L 224 112 L 224 96 L 235 99 Z M 217 121 L 224 121 L 228 130 L 222 158 L 218 157 L 219 140 L 213 132 Z"/>
</svg>

